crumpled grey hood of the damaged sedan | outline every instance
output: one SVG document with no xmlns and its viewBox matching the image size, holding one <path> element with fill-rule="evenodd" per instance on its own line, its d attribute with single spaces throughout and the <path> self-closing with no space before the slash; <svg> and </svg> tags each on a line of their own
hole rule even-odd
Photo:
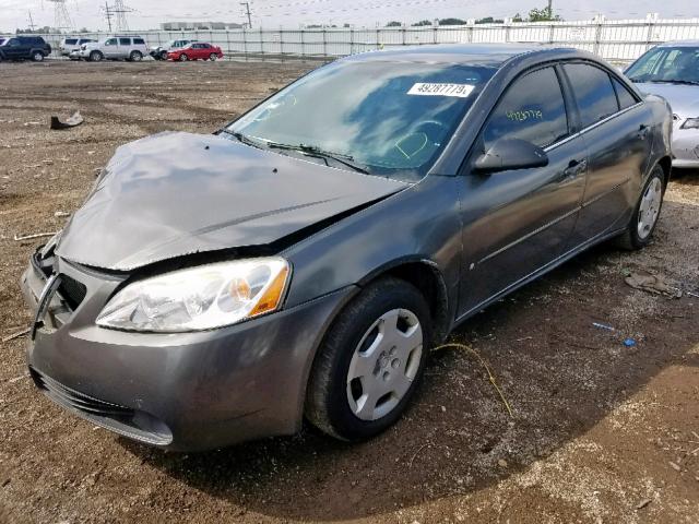
<svg viewBox="0 0 699 524">
<path fill-rule="evenodd" d="M 129 271 L 263 246 L 407 186 L 221 136 L 166 132 L 117 150 L 56 252 Z"/>
</svg>

